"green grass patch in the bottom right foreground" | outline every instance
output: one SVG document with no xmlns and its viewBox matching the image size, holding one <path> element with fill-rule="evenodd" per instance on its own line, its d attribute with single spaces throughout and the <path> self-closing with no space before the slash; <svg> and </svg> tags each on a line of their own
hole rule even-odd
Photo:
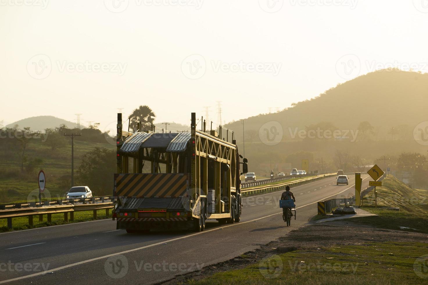
<svg viewBox="0 0 428 285">
<path fill-rule="evenodd" d="M 426 243 L 367 243 L 297 250 L 190 284 L 423 284 Z M 419 270 L 419 271 L 418 271 Z M 421 271 L 422 270 L 422 271 Z"/>
</svg>

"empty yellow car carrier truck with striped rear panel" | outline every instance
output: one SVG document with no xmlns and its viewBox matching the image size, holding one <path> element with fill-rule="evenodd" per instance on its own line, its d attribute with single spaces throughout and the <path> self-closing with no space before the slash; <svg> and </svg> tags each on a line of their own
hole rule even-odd
<svg viewBox="0 0 428 285">
<path fill-rule="evenodd" d="M 137 122 L 139 131 L 130 132 L 129 124 L 128 132 L 123 131 L 118 114 L 113 189 L 117 229 L 203 231 L 207 219 L 239 222 L 240 175 L 248 166 L 232 131 L 219 126 L 208 132 L 205 121 L 199 130 L 195 113 L 190 132 L 156 132 L 154 126 L 129 120 Z M 152 130 L 141 131 L 142 125 Z"/>
</svg>

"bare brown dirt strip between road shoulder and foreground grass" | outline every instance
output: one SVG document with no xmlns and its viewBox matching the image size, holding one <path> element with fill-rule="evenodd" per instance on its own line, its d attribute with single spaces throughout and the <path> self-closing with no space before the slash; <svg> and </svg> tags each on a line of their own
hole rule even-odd
<svg viewBox="0 0 428 285">
<path fill-rule="evenodd" d="M 218 272 L 235 270 L 258 264 L 271 255 L 302 249 L 318 249 L 333 245 L 364 245 L 371 242 L 421 242 L 428 243 L 428 234 L 394 231 L 361 226 L 350 221 L 339 220 L 327 224 L 307 225 L 291 231 L 253 252 L 238 258 L 203 268 L 201 271 L 176 276 L 164 284 L 183 284 L 189 280 L 200 280 Z"/>
</svg>

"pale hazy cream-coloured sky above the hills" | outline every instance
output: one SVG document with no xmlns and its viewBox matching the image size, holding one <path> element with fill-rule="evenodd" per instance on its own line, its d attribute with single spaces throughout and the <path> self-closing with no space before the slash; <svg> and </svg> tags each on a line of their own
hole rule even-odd
<svg viewBox="0 0 428 285">
<path fill-rule="evenodd" d="M 0 0 L 0 121 L 226 122 L 388 66 L 428 71 L 427 0 Z M 198 117 L 199 117 L 198 116 Z M 114 127 L 113 127 L 114 128 Z"/>
</svg>

